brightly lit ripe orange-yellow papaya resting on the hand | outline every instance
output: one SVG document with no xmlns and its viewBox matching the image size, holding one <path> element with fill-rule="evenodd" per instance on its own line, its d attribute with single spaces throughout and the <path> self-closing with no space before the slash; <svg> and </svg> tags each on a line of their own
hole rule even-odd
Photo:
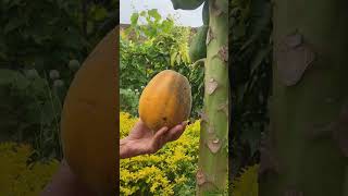
<svg viewBox="0 0 348 196">
<path fill-rule="evenodd" d="M 189 118 L 191 87 L 188 79 L 172 70 L 158 73 L 144 88 L 139 100 L 139 117 L 152 131 L 169 128 Z"/>
</svg>

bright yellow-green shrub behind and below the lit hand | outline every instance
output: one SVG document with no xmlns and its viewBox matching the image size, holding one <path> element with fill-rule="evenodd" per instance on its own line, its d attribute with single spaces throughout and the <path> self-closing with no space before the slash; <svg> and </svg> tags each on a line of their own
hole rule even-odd
<svg viewBox="0 0 348 196">
<path fill-rule="evenodd" d="M 121 138 L 136 122 L 128 113 L 120 113 Z M 196 121 L 157 154 L 120 160 L 121 195 L 195 195 L 199 133 Z"/>
</svg>

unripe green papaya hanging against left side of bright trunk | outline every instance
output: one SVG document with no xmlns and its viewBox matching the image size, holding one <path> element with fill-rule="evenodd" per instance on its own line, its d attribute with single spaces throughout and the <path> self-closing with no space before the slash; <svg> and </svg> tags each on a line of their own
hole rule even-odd
<svg viewBox="0 0 348 196">
<path fill-rule="evenodd" d="M 208 33 L 208 25 L 203 25 L 198 28 L 195 37 L 191 40 L 189 46 L 189 58 L 191 62 L 196 62 L 199 59 L 206 58 L 207 56 L 207 33 Z"/>
</svg>

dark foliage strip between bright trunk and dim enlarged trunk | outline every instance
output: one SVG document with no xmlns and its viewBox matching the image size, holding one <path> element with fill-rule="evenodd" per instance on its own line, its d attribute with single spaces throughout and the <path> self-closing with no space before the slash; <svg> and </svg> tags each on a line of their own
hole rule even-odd
<svg viewBox="0 0 348 196">
<path fill-rule="evenodd" d="M 240 168 L 259 161 L 261 133 L 269 123 L 272 5 L 269 0 L 233 0 L 229 10 L 233 179 Z"/>
</svg>

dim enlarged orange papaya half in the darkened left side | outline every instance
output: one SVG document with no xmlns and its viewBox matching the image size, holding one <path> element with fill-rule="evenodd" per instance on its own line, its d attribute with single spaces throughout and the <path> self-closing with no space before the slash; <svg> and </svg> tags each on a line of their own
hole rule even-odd
<svg viewBox="0 0 348 196">
<path fill-rule="evenodd" d="M 64 158 L 99 195 L 115 195 L 119 127 L 119 26 L 94 49 L 65 97 L 61 136 Z"/>
</svg>

